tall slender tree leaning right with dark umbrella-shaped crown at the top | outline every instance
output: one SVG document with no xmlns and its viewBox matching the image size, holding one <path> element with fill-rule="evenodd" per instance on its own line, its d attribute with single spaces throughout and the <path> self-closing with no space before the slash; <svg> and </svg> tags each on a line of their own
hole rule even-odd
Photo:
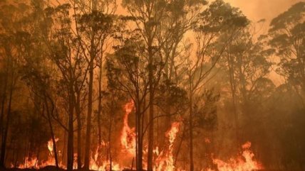
<svg viewBox="0 0 305 171">
<path fill-rule="evenodd" d="M 190 170 L 195 170 L 193 132 L 195 118 L 193 111 L 197 104 L 195 98 L 202 94 L 202 88 L 209 81 L 212 70 L 217 65 L 220 57 L 224 53 L 227 45 L 232 42 L 237 32 L 247 26 L 248 20 L 239 9 L 224 3 L 222 0 L 212 2 L 205 11 L 200 13 L 195 31 L 196 52 L 192 53 L 192 45 L 187 45 L 185 67 L 182 73 L 185 73 L 185 87 L 189 98 L 189 136 L 190 136 Z M 224 33 L 229 36 L 222 40 L 220 46 L 219 38 Z M 217 50 L 220 49 L 220 50 Z"/>
</svg>

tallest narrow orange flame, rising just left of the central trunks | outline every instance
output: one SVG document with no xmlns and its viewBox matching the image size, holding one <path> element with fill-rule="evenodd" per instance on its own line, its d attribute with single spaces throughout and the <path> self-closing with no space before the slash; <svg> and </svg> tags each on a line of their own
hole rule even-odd
<svg viewBox="0 0 305 171">
<path fill-rule="evenodd" d="M 127 151 L 133 157 L 135 157 L 135 128 L 130 128 L 128 125 L 128 116 L 133 111 L 134 106 L 133 101 L 125 104 L 124 125 L 120 136 L 120 143 L 123 146 L 123 150 Z"/>
</svg>

